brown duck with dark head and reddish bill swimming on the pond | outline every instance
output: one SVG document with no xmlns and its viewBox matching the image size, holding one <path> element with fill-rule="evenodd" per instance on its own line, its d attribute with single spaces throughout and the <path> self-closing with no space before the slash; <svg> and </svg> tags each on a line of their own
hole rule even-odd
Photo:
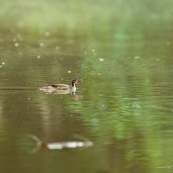
<svg viewBox="0 0 173 173">
<path fill-rule="evenodd" d="M 39 90 L 46 93 L 56 93 L 56 94 L 67 94 L 67 93 L 75 93 L 76 92 L 76 83 L 81 83 L 81 79 L 73 79 L 71 85 L 67 84 L 46 84 Z"/>
</svg>

